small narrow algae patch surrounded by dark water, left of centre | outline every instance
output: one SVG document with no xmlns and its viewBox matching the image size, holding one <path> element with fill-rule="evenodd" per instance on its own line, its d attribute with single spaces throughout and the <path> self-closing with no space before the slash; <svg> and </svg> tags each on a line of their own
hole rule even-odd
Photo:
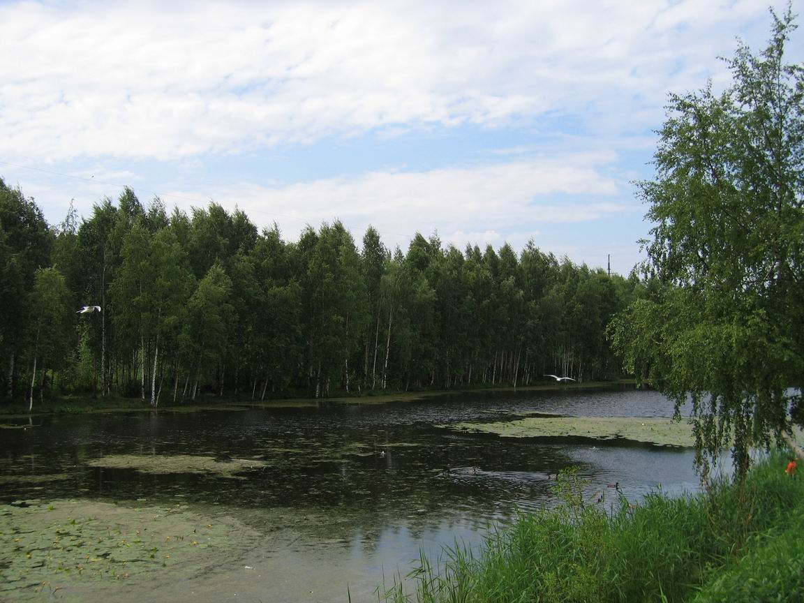
<svg viewBox="0 0 804 603">
<path fill-rule="evenodd" d="M 270 465 L 267 461 L 257 459 L 219 460 L 189 454 L 113 454 L 92 459 L 87 464 L 105 469 L 133 469 L 146 474 L 211 474 L 227 478 L 237 477 L 236 474 L 247 471 L 265 469 Z"/>
</svg>

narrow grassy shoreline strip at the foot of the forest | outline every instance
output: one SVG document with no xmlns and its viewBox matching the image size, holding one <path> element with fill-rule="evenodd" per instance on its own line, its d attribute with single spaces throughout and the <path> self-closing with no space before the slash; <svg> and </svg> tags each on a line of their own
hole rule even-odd
<svg viewBox="0 0 804 603">
<path fill-rule="evenodd" d="M 536 384 L 527 387 L 501 387 L 499 385 L 490 387 L 458 388 L 449 390 L 418 390 L 418 391 L 399 391 L 399 392 L 363 392 L 347 393 L 337 392 L 334 396 L 327 398 L 310 398 L 304 394 L 288 397 L 268 398 L 266 400 L 252 400 L 251 396 L 215 396 L 207 393 L 194 401 L 184 400 L 173 404 L 170 397 L 162 397 L 159 402 L 161 410 L 173 410 L 187 412 L 194 410 L 225 409 L 225 408 L 293 408 L 317 406 L 318 404 L 387 404 L 388 402 L 424 400 L 446 394 L 475 393 L 475 392 L 531 392 L 531 391 L 562 391 L 567 389 L 588 389 L 616 387 L 618 385 L 633 385 L 633 379 L 621 381 L 589 381 L 581 384 L 556 384 L 552 382 Z M 150 400 L 143 402 L 139 398 L 124 398 L 122 396 L 53 396 L 43 401 L 34 400 L 32 414 L 65 414 L 65 413 L 84 413 L 84 412 L 109 412 L 109 411 L 150 411 Z M 27 416 L 28 403 L 24 400 L 16 400 L 10 404 L 0 404 L 0 415 L 6 416 Z"/>
</svg>

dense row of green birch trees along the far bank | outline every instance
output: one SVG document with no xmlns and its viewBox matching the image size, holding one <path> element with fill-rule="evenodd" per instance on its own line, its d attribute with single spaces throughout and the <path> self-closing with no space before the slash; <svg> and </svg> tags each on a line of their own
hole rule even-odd
<svg viewBox="0 0 804 603">
<path fill-rule="evenodd" d="M 218 204 L 169 214 L 125 189 L 48 225 L 0 180 L 6 400 L 195 400 L 532 384 L 616 376 L 605 337 L 636 277 L 528 244 L 362 245 L 338 221 L 296 242 Z M 77 314 L 81 306 L 100 312 Z"/>
</svg>

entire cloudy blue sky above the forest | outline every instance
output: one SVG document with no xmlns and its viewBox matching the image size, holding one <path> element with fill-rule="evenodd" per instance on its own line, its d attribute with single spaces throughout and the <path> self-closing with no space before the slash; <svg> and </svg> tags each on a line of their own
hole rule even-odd
<svg viewBox="0 0 804 603">
<path fill-rule="evenodd" d="M 668 93 L 728 84 L 769 6 L 0 0 L 0 177 L 51 224 L 129 186 L 286 240 L 340 219 L 627 274 Z"/>
</svg>

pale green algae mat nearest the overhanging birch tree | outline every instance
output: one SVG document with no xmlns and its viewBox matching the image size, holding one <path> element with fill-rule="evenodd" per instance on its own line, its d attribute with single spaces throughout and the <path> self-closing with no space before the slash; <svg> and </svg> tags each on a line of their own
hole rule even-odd
<svg viewBox="0 0 804 603">
<path fill-rule="evenodd" d="M 686 421 L 638 416 L 528 416 L 498 423 L 458 423 L 441 427 L 494 433 L 500 437 L 622 438 L 661 446 L 695 445 L 692 426 Z"/>
</svg>

